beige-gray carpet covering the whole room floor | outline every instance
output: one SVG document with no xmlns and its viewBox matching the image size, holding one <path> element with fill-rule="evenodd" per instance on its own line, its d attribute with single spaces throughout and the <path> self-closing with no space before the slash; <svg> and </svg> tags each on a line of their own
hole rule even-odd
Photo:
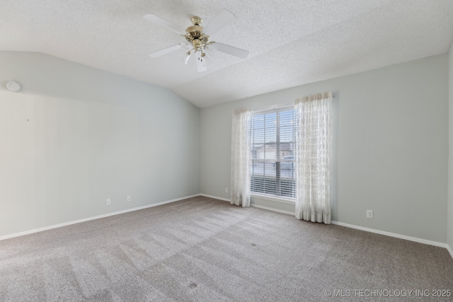
<svg viewBox="0 0 453 302">
<path fill-rule="evenodd" d="M 0 241 L 0 301 L 431 301 L 447 291 L 445 248 L 207 197 Z"/>
</svg>

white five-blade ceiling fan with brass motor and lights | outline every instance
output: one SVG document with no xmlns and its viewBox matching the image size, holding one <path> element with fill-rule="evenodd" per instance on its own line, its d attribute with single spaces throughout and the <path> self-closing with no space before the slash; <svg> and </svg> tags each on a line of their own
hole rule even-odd
<svg viewBox="0 0 453 302">
<path fill-rule="evenodd" d="M 222 11 L 222 13 L 219 13 L 219 16 L 214 18 L 204 28 L 201 26 L 203 22 L 202 19 L 200 17 L 194 16 L 190 18 L 190 21 L 192 21 L 193 25 L 189 26 L 185 30 L 180 30 L 175 25 L 168 23 L 167 21 L 159 18 L 156 15 L 153 15 L 152 13 L 145 15 L 144 18 L 158 25 L 164 26 L 164 28 L 167 28 L 184 37 L 183 42 L 180 42 L 177 45 L 173 45 L 171 47 L 167 47 L 163 50 L 149 54 L 149 57 L 151 58 L 161 57 L 162 55 L 168 54 L 169 52 L 185 49 L 187 51 L 185 53 L 185 64 L 188 63 L 190 57 L 195 56 L 197 60 L 197 70 L 199 72 L 202 72 L 207 70 L 206 54 L 212 56 L 216 50 L 219 52 L 224 52 L 226 54 L 231 54 L 236 57 L 240 57 L 242 59 L 246 59 L 246 57 L 248 56 L 247 50 L 241 50 L 240 48 L 236 48 L 230 45 L 210 41 L 211 35 L 216 33 L 217 30 L 224 28 L 224 26 L 228 25 L 236 18 L 229 11 L 224 10 Z"/>
</svg>

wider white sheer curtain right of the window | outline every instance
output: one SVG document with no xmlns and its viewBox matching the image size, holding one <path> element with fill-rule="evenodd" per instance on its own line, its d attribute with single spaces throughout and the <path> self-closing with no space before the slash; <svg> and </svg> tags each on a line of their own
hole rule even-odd
<svg viewBox="0 0 453 302">
<path fill-rule="evenodd" d="M 332 93 L 294 102 L 296 218 L 331 223 Z"/>
</svg>

